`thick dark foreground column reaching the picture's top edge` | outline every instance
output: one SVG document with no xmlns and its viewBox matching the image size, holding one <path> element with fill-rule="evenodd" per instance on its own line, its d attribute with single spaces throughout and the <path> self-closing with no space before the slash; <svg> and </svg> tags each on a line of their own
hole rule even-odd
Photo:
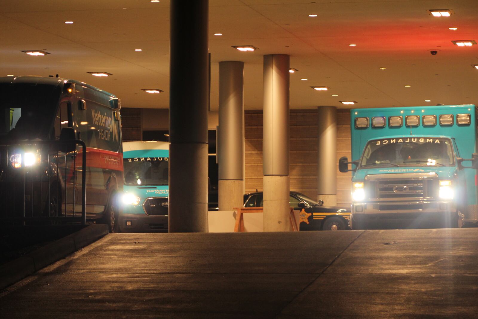
<svg viewBox="0 0 478 319">
<path fill-rule="evenodd" d="M 169 231 L 207 231 L 208 0 L 171 0 Z"/>
</svg>

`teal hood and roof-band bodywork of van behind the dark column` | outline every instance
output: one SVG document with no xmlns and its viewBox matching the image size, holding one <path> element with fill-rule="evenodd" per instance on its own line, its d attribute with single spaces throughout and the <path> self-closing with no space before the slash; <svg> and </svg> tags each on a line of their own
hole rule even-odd
<svg viewBox="0 0 478 319">
<path fill-rule="evenodd" d="M 123 153 L 123 158 L 136 157 L 169 157 L 169 150 L 136 150 Z M 130 214 L 144 214 L 143 203 L 146 198 L 151 197 L 169 197 L 168 185 L 124 185 L 124 193 L 131 193 L 141 198 L 140 203 L 136 206 L 129 205 L 128 213 Z"/>
</svg>

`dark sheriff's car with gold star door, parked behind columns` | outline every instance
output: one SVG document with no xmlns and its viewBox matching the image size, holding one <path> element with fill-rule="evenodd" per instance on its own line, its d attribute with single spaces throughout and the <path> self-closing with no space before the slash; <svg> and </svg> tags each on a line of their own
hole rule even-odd
<svg viewBox="0 0 478 319">
<path fill-rule="evenodd" d="M 299 227 L 301 231 L 341 231 L 348 228 L 348 219 L 350 218 L 350 208 L 322 206 L 322 202 L 317 202 L 308 198 L 302 193 L 290 193 L 289 203 L 294 210 L 302 210 L 310 214 L 306 222 L 301 222 Z M 249 193 L 244 195 L 244 207 L 262 207 L 262 192 Z"/>
</svg>

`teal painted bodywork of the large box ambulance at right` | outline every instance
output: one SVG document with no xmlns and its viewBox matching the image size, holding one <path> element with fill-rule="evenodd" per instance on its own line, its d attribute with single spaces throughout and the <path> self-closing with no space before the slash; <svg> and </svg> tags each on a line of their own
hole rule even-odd
<svg viewBox="0 0 478 319">
<path fill-rule="evenodd" d="M 471 154 L 476 153 L 477 122 L 475 105 L 438 105 L 438 106 L 417 106 L 417 107 L 393 107 L 393 108 L 372 108 L 372 109 L 353 109 L 350 110 L 350 131 L 351 131 L 351 161 L 358 161 L 363 153 L 365 145 L 369 140 L 390 138 L 390 137 L 445 137 L 451 138 L 456 142 L 454 147 L 455 157 L 471 158 Z M 453 125 L 440 125 L 440 114 L 453 114 Z M 457 125 L 456 114 L 470 114 L 470 125 Z M 405 116 L 419 115 L 420 124 L 412 128 L 405 126 Z M 435 126 L 423 126 L 423 115 L 436 115 L 437 123 Z M 386 117 L 385 127 L 372 128 L 372 117 Z M 389 127 L 388 118 L 390 116 L 403 116 L 402 127 Z M 355 119 L 358 117 L 368 117 L 368 128 L 355 128 Z M 412 133 L 412 134 L 411 134 Z M 455 161 L 456 162 L 456 161 Z M 464 162 L 463 165 L 470 166 L 471 162 Z M 391 173 L 415 173 L 415 172 L 434 172 L 440 179 L 451 179 L 455 175 L 464 175 L 466 178 L 467 203 L 468 205 L 477 203 L 476 192 L 476 171 L 464 168 L 460 173 L 455 166 L 417 166 L 417 167 L 378 167 L 369 169 L 359 169 L 352 172 L 352 181 L 363 181 L 365 176 L 373 174 L 391 174 Z"/>
</svg>

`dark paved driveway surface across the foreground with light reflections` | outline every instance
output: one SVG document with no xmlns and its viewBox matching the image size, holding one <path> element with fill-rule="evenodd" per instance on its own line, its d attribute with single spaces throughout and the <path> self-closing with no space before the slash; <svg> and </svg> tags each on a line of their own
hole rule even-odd
<svg viewBox="0 0 478 319">
<path fill-rule="evenodd" d="M 478 318 L 478 229 L 108 234 L 0 318 Z"/>
</svg>

